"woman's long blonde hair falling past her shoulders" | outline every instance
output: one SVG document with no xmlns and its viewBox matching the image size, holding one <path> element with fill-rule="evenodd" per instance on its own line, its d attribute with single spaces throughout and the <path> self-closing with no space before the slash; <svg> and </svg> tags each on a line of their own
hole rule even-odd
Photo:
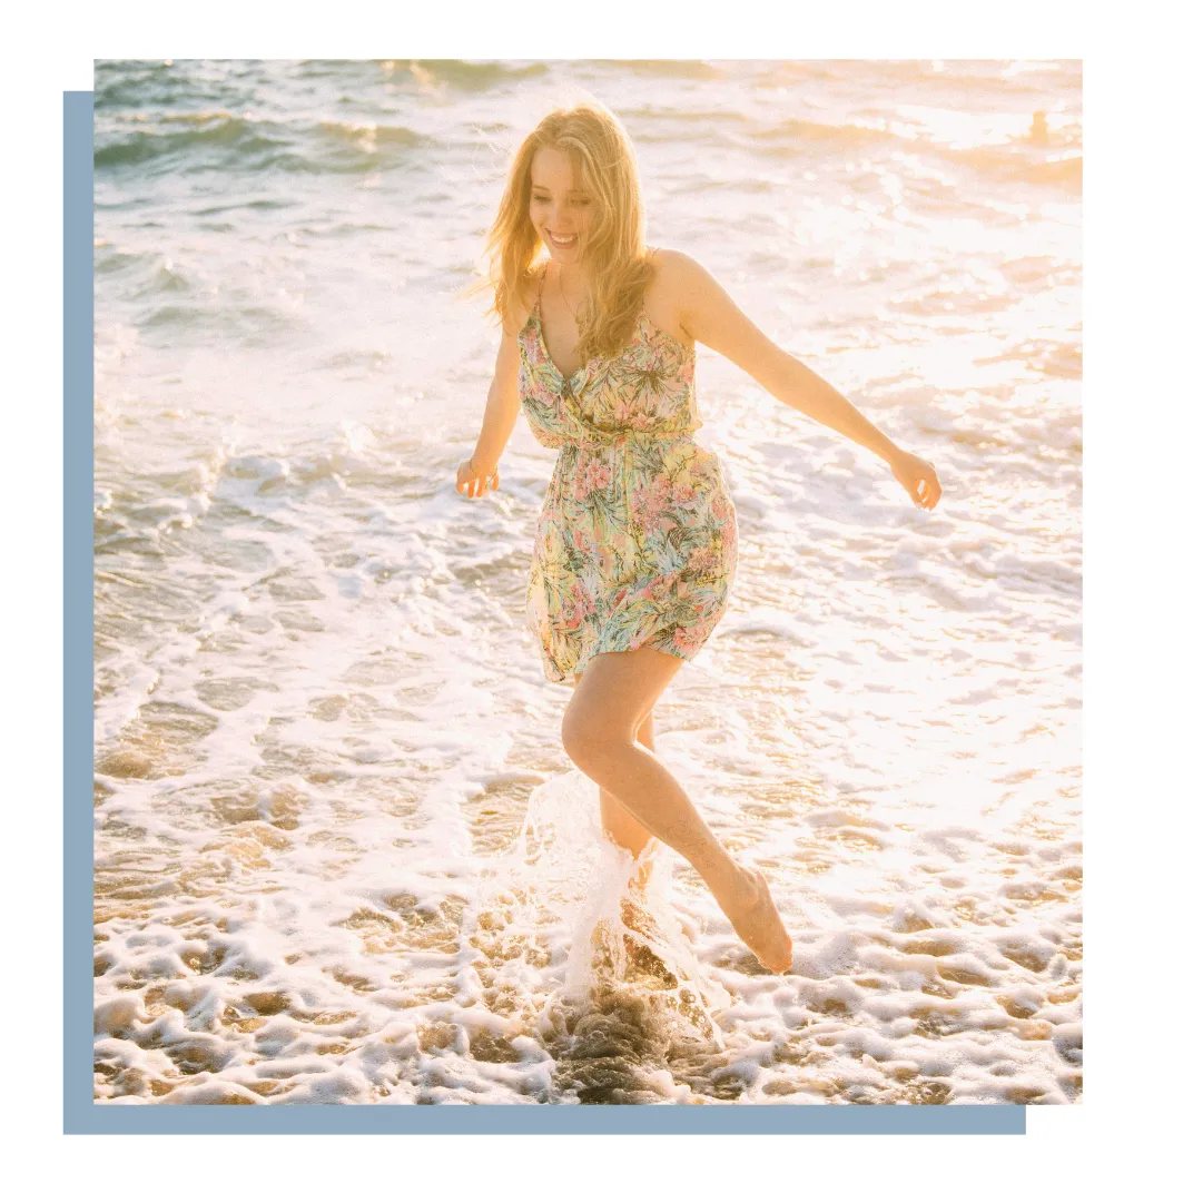
<svg viewBox="0 0 1183 1183">
<path fill-rule="evenodd" d="M 522 142 L 485 237 L 487 274 L 470 291 L 492 289 L 489 315 L 503 325 L 515 303 L 534 304 L 542 239 L 530 220 L 530 166 L 541 148 L 564 153 L 593 200 L 593 231 L 583 251 L 588 313 L 580 321 L 580 364 L 614 357 L 632 338 L 653 265 L 645 250 L 645 202 L 633 144 L 616 116 L 599 103 L 551 111 Z"/>
</svg>

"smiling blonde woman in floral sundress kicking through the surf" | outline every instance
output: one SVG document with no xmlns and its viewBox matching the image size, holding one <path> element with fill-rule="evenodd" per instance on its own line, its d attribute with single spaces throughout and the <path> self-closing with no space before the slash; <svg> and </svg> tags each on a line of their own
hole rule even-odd
<svg viewBox="0 0 1183 1183">
<path fill-rule="evenodd" d="M 784 972 L 793 943 L 764 877 L 719 843 L 653 755 L 653 707 L 722 618 L 736 569 L 735 506 L 717 457 L 693 439 L 696 343 L 870 448 L 916 505 L 937 504 L 936 472 L 777 348 L 699 263 L 646 247 L 632 144 L 596 104 L 554 111 L 525 138 L 487 254 L 503 334 L 457 492 L 498 487 L 521 407 L 560 448 L 528 615 L 548 679 L 575 686 L 567 754 L 600 786 L 608 836 L 638 860 L 654 839 L 673 847 L 741 939 Z M 641 883 L 646 872 L 642 861 Z"/>
</svg>

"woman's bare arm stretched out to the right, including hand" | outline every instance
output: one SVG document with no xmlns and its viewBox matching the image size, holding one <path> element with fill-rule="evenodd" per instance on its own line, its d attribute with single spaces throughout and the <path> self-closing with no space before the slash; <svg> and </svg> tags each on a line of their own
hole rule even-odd
<svg viewBox="0 0 1183 1183">
<path fill-rule="evenodd" d="M 735 362 L 781 402 L 886 460 L 913 504 L 931 510 L 940 500 L 932 465 L 897 447 L 829 382 L 769 340 L 697 259 L 680 251 L 661 253 L 690 336 Z"/>
</svg>

